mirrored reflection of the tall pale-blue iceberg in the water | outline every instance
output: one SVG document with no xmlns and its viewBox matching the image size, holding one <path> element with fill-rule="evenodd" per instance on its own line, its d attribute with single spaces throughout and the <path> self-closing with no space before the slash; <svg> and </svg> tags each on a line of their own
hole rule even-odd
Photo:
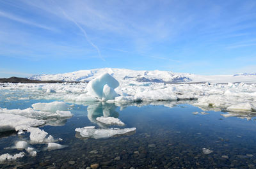
<svg viewBox="0 0 256 169">
<path fill-rule="evenodd" d="M 98 102 L 93 105 L 89 105 L 87 108 L 88 119 L 91 122 L 99 124 L 96 120 L 97 117 L 118 117 L 118 112 L 115 111 L 116 106 L 114 104 Z"/>
</svg>

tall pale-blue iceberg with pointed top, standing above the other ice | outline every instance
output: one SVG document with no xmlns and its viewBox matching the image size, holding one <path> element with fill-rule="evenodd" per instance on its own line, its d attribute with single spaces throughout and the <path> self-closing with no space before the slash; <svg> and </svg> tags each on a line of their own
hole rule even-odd
<svg viewBox="0 0 256 169">
<path fill-rule="evenodd" d="M 115 88 L 118 87 L 118 81 L 108 73 L 91 80 L 87 85 L 87 91 L 96 98 L 105 100 L 113 99 L 116 96 Z M 105 88 L 105 89 L 104 89 Z"/>
</svg>

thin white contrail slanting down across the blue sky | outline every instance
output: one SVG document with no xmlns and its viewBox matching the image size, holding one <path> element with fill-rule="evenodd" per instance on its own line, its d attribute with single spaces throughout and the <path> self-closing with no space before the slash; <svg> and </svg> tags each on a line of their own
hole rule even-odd
<svg viewBox="0 0 256 169">
<path fill-rule="evenodd" d="M 54 4 L 56 4 L 53 0 L 52 0 L 52 2 L 53 2 Z M 56 6 L 58 6 L 58 4 L 56 4 Z M 102 59 L 102 61 L 106 62 L 106 60 L 105 60 L 105 59 L 102 57 L 102 55 L 100 54 L 99 48 L 98 48 L 94 43 L 92 43 L 92 41 L 88 38 L 87 33 L 86 33 L 86 31 L 83 29 L 83 27 L 81 27 L 81 26 L 76 22 L 76 20 L 74 20 L 72 17 L 68 16 L 67 13 L 66 13 L 60 6 L 58 6 L 58 8 L 60 8 L 60 10 L 62 11 L 63 15 L 64 15 L 66 18 L 68 18 L 68 20 L 71 20 L 74 24 L 76 24 L 76 26 L 77 26 L 77 27 L 82 31 L 82 33 L 84 34 L 84 37 L 85 37 L 85 39 L 88 41 L 88 43 L 90 43 L 90 44 L 92 45 L 92 47 L 97 50 L 100 59 Z"/>
</svg>

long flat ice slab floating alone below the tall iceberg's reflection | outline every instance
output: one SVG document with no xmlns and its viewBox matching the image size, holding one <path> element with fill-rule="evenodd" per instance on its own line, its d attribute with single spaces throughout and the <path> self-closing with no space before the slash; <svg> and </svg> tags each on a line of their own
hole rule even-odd
<svg viewBox="0 0 256 169">
<path fill-rule="evenodd" d="M 124 135 L 136 131 L 136 128 L 109 128 L 109 129 L 95 129 L 95 126 L 88 126 L 84 128 L 76 128 L 75 131 L 79 132 L 81 136 L 86 138 L 109 138 L 115 135 Z"/>
</svg>

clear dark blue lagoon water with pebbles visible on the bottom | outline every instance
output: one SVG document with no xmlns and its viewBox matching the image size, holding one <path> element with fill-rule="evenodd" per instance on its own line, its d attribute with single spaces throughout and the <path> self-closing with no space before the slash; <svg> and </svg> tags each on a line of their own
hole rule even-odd
<svg viewBox="0 0 256 169">
<path fill-rule="evenodd" d="M 1 103 L 2 108 L 28 108 L 29 102 Z M 40 101 L 43 102 L 43 101 Z M 86 168 L 99 164 L 99 168 L 256 168 L 256 123 L 237 117 L 225 118 L 223 112 L 203 112 L 191 105 L 126 107 L 120 110 L 111 104 L 99 103 L 88 119 L 87 108 L 75 105 L 70 110 L 74 116 L 63 121 L 63 126 L 44 126 L 54 138 L 67 148 L 44 151 L 45 144 L 33 145 L 41 150 L 37 156 L 28 156 L 0 164 L 1 168 Z M 81 138 L 76 128 L 102 126 L 93 119 L 108 108 L 109 115 L 118 117 L 126 125 L 136 128 L 136 133 L 112 138 Z M 120 128 L 120 127 L 118 127 Z M 0 154 L 19 153 L 11 147 L 19 136 L 15 132 L 0 134 Z M 29 138 L 28 133 L 22 138 Z M 202 149 L 211 149 L 204 154 Z"/>
</svg>

